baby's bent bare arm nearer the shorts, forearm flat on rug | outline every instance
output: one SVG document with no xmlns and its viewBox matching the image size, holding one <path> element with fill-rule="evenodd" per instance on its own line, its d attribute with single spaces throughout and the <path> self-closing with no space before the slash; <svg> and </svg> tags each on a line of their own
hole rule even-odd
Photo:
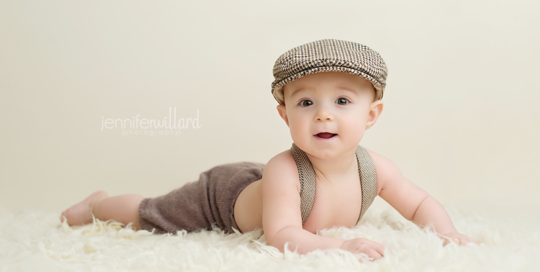
<svg viewBox="0 0 540 272">
<path fill-rule="evenodd" d="M 384 247 L 367 239 L 344 241 L 315 235 L 302 228 L 300 212 L 300 183 L 296 163 L 289 151 L 272 158 L 264 167 L 263 180 L 263 230 L 268 244 L 284 251 L 300 254 L 315 249 L 342 248 L 353 253 L 366 253 L 378 259 Z"/>
</svg>

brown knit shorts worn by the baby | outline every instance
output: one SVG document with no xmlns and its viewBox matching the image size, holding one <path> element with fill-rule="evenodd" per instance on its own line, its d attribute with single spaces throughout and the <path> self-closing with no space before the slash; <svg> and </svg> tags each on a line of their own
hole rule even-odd
<svg viewBox="0 0 540 272">
<path fill-rule="evenodd" d="M 234 233 L 232 228 L 240 231 L 234 204 L 244 188 L 262 178 L 263 168 L 264 164 L 255 162 L 218 165 L 201 173 L 198 181 L 145 198 L 139 206 L 139 225 L 155 233 L 211 230 L 212 224 L 226 233 Z"/>
</svg>

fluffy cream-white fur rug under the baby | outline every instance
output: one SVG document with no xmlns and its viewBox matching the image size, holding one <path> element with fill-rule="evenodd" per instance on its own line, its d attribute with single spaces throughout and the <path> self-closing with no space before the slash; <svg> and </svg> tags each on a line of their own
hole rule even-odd
<svg viewBox="0 0 540 272">
<path fill-rule="evenodd" d="M 338 249 L 282 254 L 266 245 L 260 230 L 155 235 L 114 222 L 68 227 L 59 212 L 0 209 L 0 271 L 540 271 L 539 221 L 446 208 L 458 230 L 480 246 L 443 247 L 436 234 L 382 201 L 356 228 L 319 233 L 386 246 L 385 257 L 366 263 Z"/>
</svg>

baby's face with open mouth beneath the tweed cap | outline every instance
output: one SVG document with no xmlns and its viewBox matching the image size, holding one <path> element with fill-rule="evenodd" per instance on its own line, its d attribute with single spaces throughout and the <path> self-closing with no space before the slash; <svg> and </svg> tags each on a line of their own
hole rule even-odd
<svg viewBox="0 0 540 272">
<path fill-rule="evenodd" d="M 285 85 L 285 105 L 278 111 L 300 149 L 331 158 L 356 150 L 382 111 L 382 102 L 374 98 L 373 85 L 359 76 L 316 73 Z"/>
</svg>

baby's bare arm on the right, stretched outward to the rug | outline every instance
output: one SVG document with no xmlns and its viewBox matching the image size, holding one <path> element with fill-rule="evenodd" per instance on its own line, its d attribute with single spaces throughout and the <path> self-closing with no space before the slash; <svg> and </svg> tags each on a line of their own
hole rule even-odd
<svg viewBox="0 0 540 272">
<path fill-rule="evenodd" d="M 405 178 L 392 161 L 373 151 L 368 152 L 375 164 L 377 181 L 382 184 L 379 196 L 403 217 L 421 227 L 433 223 L 437 233 L 450 237 L 459 244 L 469 242 L 476 244 L 467 236 L 458 233 L 444 207 L 426 191 Z"/>
</svg>

